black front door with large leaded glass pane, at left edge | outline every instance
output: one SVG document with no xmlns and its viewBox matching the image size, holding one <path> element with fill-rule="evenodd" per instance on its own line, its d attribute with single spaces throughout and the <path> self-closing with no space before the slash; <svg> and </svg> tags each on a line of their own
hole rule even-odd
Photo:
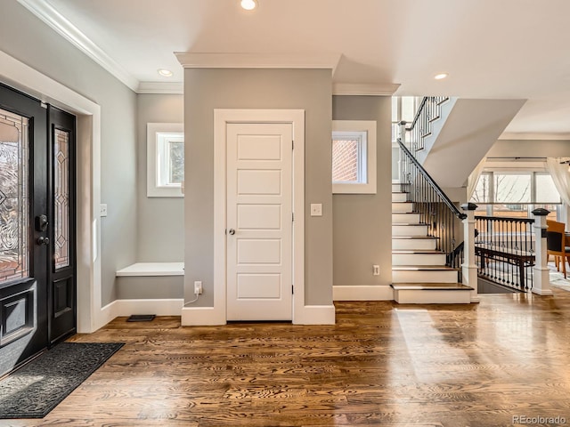
<svg viewBox="0 0 570 427">
<path fill-rule="evenodd" d="M 47 111 L 0 85 L 0 375 L 48 345 Z"/>
</svg>

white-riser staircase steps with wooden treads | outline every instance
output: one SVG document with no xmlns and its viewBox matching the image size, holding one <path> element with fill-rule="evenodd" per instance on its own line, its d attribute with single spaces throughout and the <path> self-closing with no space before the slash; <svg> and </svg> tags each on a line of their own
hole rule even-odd
<svg viewBox="0 0 570 427">
<path fill-rule="evenodd" d="M 402 190 L 404 189 L 404 191 Z M 445 265 L 436 250 L 438 238 L 428 235 L 405 185 L 392 184 L 392 288 L 394 299 L 407 304 L 470 303 L 472 288 L 458 283 L 458 270 Z"/>
</svg>

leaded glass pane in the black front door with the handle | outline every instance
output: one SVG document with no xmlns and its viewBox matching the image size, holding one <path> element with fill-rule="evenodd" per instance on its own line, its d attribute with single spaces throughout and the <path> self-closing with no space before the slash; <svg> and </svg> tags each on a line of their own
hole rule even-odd
<svg viewBox="0 0 570 427">
<path fill-rule="evenodd" d="M 0 283 L 27 278 L 28 118 L 0 109 Z"/>
</svg>

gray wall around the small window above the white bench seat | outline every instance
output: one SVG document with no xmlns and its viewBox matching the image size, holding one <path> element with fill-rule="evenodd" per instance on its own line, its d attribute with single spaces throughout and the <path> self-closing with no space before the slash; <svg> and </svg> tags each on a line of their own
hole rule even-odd
<svg viewBox="0 0 570 427">
<path fill-rule="evenodd" d="M 183 123 L 183 95 L 137 96 L 138 249 L 137 262 L 182 262 L 183 197 L 146 197 L 146 124 Z"/>
</svg>

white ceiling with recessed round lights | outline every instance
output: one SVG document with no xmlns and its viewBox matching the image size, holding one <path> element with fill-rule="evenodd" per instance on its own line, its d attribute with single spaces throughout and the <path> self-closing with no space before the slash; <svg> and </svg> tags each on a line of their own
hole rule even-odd
<svg viewBox="0 0 570 427">
<path fill-rule="evenodd" d="M 85 36 L 135 90 L 182 82 L 174 52 L 338 53 L 335 84 L 527 99 L 503 138 L 570 139 L 568 0 L 258 0 L 253 12 L 239 0 L 19 1 Z"/>
</svg>

